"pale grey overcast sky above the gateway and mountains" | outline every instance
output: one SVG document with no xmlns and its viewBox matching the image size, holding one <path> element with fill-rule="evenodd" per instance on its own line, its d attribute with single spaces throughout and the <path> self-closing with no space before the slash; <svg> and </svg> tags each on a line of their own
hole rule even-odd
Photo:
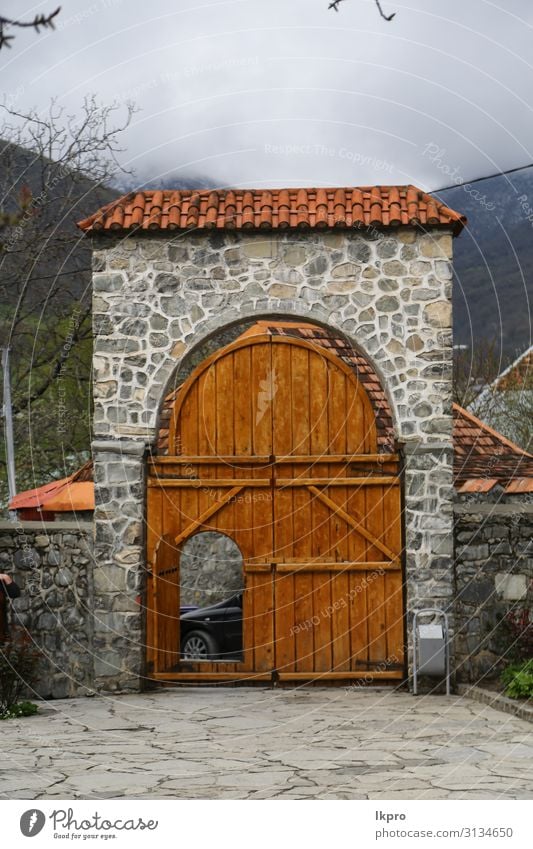
<svg viewBox="0 0 533 849">
<path fill-rule="evenodd" d="M 139 183 L 435 189 L 533 161 L 531 0 L 382 2 L 391 23 L 373 0 L 64 0 L 54 33 L 0 52 L 0 90 L 135 101 Z"/>
</svg>

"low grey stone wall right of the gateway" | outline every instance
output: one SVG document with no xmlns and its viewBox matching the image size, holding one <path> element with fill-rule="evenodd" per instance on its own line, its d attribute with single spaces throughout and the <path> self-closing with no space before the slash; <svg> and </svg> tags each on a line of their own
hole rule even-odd
<svg viewBox="0 0 533 849">
<path fill-rule="evenodd" d="M 458 497 L 455 507 L 457 677 L 493 677 L 512 658 L 505 614 L 533 604 L 533 499 Z"/>
</svg>

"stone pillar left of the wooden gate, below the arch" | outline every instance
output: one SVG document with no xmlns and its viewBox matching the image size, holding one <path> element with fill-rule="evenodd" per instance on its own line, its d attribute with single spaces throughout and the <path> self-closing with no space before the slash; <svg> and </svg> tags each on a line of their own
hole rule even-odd
<svg viewBox="0 0 533 849">
<path fill-rule="evenodd" d="M 144 441 L 93 442 L 94 665 L 101 692 L 138 691 L 144 663 L 139 604 L 144 563 Z"/>
</svg>

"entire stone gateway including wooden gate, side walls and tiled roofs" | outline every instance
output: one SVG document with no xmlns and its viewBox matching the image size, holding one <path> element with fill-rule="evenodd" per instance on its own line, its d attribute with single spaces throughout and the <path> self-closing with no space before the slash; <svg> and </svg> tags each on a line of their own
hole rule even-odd
<svg viewBox="0 0 533 849">
<path fill-rule="evenodd" d="M 12 506 L 92 509 L 94 476 L 94 539 L 0 533 L 40 582 L 17 606 L 43 694 L 400 683 L 427 607 L 458 678 L 494 667 L 533 577 L 533 457 L 452 405 L 464 224 L 413 186 L 142 192 L 80 222 L 93 469 Z"/>
</svg>

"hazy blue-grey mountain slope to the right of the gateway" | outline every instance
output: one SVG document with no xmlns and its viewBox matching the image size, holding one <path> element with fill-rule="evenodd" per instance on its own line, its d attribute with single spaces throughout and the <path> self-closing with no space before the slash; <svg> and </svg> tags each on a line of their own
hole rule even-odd
<svg viewBox="0 0 533 849">
<path fill-rule="evenodd" d="M 518 355 L 532 342 L 533 169 L 433 194 L 468 218 L 454 240 L 455 343 Z"/>
</svg>

